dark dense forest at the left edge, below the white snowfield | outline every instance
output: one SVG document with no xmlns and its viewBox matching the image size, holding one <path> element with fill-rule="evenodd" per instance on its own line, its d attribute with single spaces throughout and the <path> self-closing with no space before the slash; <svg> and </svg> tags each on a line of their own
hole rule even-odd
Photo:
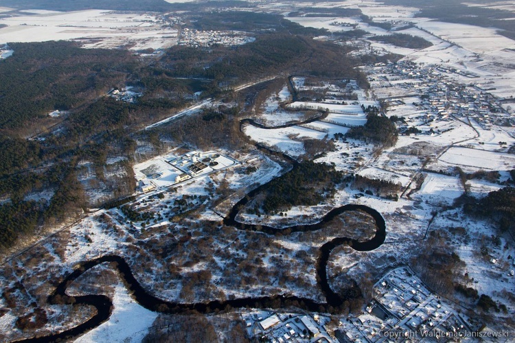
<svg viewBox="0 0 515 343">
<path fill-rule="evenodd" d="M 122 86 L 137 66 L 128 51 L 81 49 L 71 42 L 10 47 L 13 56 L 0 63 L 0 128 L 21 128 L 53 110 L 82 106 Z"/>
</svg>

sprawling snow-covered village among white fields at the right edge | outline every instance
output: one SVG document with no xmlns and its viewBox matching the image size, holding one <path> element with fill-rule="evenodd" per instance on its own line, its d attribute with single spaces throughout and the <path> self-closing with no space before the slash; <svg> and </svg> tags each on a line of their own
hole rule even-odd
<svg viewBox="0 0 515 343">
<path fill-rule="evenodd" d="M 437 122 L 453 118 L 466 122 L 474 120 L 485 130 L 490 130 L 493 125 L 515 125 L 508 112 L 511 107 L 505 105 L 510 99 L 488 93 L 492 90 L 488 84 L 475 82 L 478 76 L 470 72 L 409 61 L 380 63 L 372 69 L 371 84 L 387 106 L 389 115 L 402 118 L 401 132 L 439 134 Z M 428 123 L 431 129 L 426 132 L 410 130 L 421 123 Z"/>
</svg>

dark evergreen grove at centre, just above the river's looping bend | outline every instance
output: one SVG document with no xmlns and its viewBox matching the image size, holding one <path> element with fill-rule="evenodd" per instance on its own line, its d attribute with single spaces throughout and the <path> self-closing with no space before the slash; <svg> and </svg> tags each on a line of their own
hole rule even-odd
<svg viewBox="0 0 515 343">
<path fill-rule="evenodd" d="M 303 161 L 266 187 L 265 213 L 287 211 L 292 206 L 314 206 L 334 195 L 343 173 L 333 165 Z"/>
</svg>

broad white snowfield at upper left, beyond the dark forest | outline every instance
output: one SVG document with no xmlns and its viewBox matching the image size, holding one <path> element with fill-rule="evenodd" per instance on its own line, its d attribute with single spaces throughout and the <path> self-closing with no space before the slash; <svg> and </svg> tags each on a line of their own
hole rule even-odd
<svg viewBox="0 0 515 343">
<path fill-rule="evenodd" d="M 33 12 L 33 11 L 31 11 Z M 106 10 L 38 12 L 0 19 L 0 43 L 78 40 L 84 47 L 162 49 L 176 45 L 177 30 L 162 27 L 150 14 Z"/>
</svg>

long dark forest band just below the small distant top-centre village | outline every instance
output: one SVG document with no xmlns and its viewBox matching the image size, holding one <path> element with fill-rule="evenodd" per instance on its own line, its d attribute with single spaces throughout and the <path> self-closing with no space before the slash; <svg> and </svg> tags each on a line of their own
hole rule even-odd
<svg viewBox="0 0 515 343">
<path fill-rule="evenodd" d="M 350 47 L 313 40 L 307 36 L 263 34 L 240 47 L 198 50 L 173 47 L 161 64 L 174 76 L 207 78 L 221 82 L 258 80 L 275 73 L 304 73 L 330 78 L 355 78 L 368 88 L 367 78 L 354 69 L 358 60 L 347 56 Z M 205 68 L 205 66 L 209 66 Z"/>
</svg>

